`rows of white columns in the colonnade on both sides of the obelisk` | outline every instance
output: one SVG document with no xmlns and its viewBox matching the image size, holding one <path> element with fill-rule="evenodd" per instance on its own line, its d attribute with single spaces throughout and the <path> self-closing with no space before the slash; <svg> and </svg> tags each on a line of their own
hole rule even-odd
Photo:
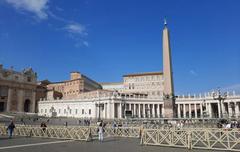
<svg viewBox="0 0 240 152">
<path fill-rule="evenodd" d="M 164 118 L 162 103 L 115 103 L 115 106 L 117 106 L 118 112 L 114 118 L 126 118 L 125 111 L 131 111 L 134 118 Z M 221 106 L 218 102 L 176 104 L 177 118 L 238 118 L 239 110 L 240 101 L 225 102 Z"/>
</svg>

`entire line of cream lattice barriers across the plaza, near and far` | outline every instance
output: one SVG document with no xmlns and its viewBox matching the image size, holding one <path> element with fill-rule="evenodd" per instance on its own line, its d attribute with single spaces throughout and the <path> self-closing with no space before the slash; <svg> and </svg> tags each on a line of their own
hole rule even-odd
<svg viewBox="0 0 240 152">
<path fill-rule="evenodd" d="M 90 141 L 98 137 L 96 126 L 62 127 L 17 126 L 15 136 Z M 7 135 L 7 127 L 0 125 L 0 135 Z M 157 128 L 105 127 L 104 137 L 140 138 L 143 145 L 240 151 L 240 130 L 219 128 Z"/>
</svg>

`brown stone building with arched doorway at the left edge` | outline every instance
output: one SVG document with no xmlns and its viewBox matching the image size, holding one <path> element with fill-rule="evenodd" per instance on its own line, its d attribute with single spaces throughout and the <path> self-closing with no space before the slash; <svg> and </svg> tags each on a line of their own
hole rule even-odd
<svg viewBox="0 0 240 152">
<path fill-rule="evenodd" d="M 31 69 L 21 72 L 0 65 L 0 111 L 35 112 L 37 74 Z"/>
</svg>

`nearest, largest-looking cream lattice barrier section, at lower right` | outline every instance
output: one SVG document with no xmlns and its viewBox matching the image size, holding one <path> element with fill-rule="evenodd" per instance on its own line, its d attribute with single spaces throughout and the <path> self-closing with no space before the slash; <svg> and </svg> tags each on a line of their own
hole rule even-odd
<svg viewBox="0 0 240 152">
<path fill-rule="evenodd" d="M 240 130 L 219 128 L 144 129 L 141 144 L 240 151 Z"/>
</svg>

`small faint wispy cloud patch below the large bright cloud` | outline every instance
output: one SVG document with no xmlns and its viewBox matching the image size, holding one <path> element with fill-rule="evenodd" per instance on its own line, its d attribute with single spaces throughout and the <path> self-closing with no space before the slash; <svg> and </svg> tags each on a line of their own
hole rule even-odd
<svg viewBox="0 0 240 152">
<path fill-rule="evenodd" d="M 79 34 L 81 36 L 88 35 L 88 33 L 86 31 L 86 27 L 82 24 L 79 24 L 79 23 L 68 24 L 68 25 L 65 26 L 64 29 L 67 30 L 69 33 L 72 33 L 72 34 Z"/>
</svg>

